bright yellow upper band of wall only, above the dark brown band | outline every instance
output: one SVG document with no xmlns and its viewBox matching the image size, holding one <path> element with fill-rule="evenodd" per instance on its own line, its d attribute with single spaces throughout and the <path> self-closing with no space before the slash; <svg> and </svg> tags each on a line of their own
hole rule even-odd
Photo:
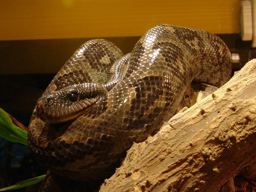
<svg viewBox="0 0 256 192">
<path fill-rule="evenodd" d="M 142 36 L 168 23 L 239 33 L 239 0 L 0 0 L 0 40 Z"/>
</svg>

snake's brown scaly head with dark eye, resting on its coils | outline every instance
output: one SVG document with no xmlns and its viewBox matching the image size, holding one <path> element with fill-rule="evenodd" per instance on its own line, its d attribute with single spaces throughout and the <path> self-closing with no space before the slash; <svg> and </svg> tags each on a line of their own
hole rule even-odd
<svg viewBox="0 0 256 192">
<path fill-rule="evenodd" d="M 75 84 L 43 95 L 37 101 L 37 116 L 46 123 L 62 123 L 80 116 L 107 90 L 97 83 Z"/>
</svg>

